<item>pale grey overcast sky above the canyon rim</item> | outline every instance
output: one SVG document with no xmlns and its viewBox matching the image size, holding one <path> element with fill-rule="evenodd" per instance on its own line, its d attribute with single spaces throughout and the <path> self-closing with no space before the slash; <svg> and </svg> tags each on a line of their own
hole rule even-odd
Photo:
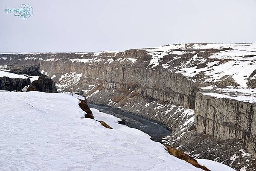
<svg viewBox="0 0 256 171">
<path fill-rule="evenodd" d="M 31 17 L 6 12 L 21 4 Z M 256 42 L 256 0 L 0 0 L 0 23 L 0 52 L 248 43 Z"/>
</svg>

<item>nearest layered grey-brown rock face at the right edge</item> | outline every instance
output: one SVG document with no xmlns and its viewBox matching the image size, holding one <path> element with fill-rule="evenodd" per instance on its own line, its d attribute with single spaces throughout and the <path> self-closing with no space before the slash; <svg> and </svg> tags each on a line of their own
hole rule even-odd
<svg viewBox="0 0 256 171">
<path fill-rule="evenodd" d="M 248 150 L 256 154 L 256 104 L 198 93 L 195 125 L 198 133 L 219 139 L 242 139 Z"/>
</svg>

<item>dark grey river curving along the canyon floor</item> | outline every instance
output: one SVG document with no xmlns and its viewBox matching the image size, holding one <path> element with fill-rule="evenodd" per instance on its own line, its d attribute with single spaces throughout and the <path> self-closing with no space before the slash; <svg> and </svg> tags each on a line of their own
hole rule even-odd
<svg viewBox="0 0 256 171">
<path fill-rule="evenodd" d="M 95 108 L 100 110 L 101 112 L 111 114 L 116 116 L 117 118 L 121 118 L 125 120 L 125 125 L 130 128 L 136 128 L 138 130 L 147 133 L 152 137 L 154 141 L 160 141 L 162 137 L 171 135 L 171 130 L 165 128 L 163 125 L 158 124 L 157 122 L 147 120 L 143 117 L 134 115 L 129 112 L 124 112 L 120 109 L 113 109 L 107 106 L 101 106 L 97 104 L 87 103 L 90 108 Z"/>
</svg>

